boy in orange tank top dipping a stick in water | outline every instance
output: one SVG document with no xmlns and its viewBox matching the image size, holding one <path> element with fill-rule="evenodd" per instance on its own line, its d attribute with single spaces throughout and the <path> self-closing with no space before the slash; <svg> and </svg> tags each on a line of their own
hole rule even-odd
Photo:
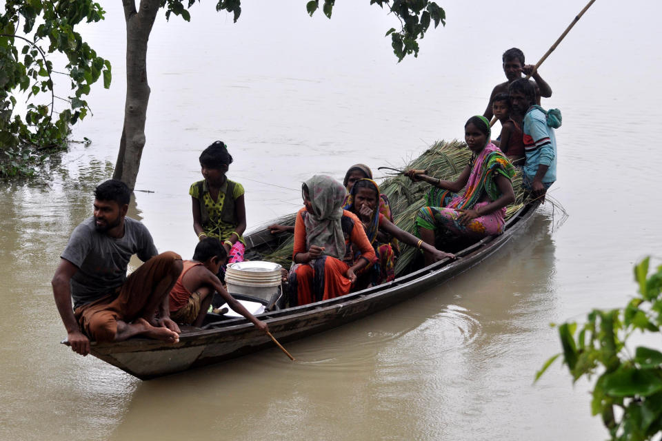
<svg viewBox="0 0 662 441">
<path fill-rule="evenodd" d="M 200 327 L 211 305 L 214 291 L 217 291 L 234 311 L 247 318 L 261 331 L 268 331 L 265 322 L 255 318 L 240 302 L 230 296 L 221 285 L 221 280 L 214 275 L 219 272 L 227 258 L 225 247 L 217 238 L 203 238 L 199 241 L 193 258 L 184 260 L 181 274 L 170 291 L 170 318 L 184 325 Z"/>
</svg>

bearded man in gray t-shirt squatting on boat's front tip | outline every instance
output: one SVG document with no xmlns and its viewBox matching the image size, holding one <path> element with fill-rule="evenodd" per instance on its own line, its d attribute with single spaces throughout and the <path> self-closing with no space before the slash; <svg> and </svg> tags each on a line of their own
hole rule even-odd
<svg viewBox="0 0 662 441">
<path fill-rule="evenodd" d="M 90 338 L 179 341 L 168 294 L 181 273 L 181 257 L 157 255 L 148 229 L 126 217 L 131 191 L 124 183 L 106 181 L 94 196 L 94 216 L 74 229 L 52 280 L 69 344 L 85 356 Z M 145 263 L 127 277 L 133 254 Z"/>
</svg>

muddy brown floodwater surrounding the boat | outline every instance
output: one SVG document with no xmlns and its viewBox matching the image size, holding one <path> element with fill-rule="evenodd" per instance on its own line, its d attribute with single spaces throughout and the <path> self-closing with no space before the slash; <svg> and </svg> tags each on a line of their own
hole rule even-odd
<svg viewBox="0 0 662 441">
<path fill-rule="evenodd" d="M 106 4 L 108 3 L 108 4 Z M 159 15 L 135 201 L 161 251 L 196 243 L 188 188 L 210 142 L 230 146 L 249 229 L 301 207 L 301 181 L 354 163 L 400 166 L 463 136 L 504 81 L 501 53 L 535 63 L 581 9 L 575 1 L 441 1 L 448 24 L 402 63 L 368 1 L 310 18 L 304 1 L 245 1 L 236 24 L 192 8 Z M 361 3 L 361 4 L 359 4 Z M 94 116 L 50 172 L 0 185 L 1 440 L 599 440 L 588 383 L 553 366 L 551 322 L 625 305 L 632 265 L 662 256 L 659 3 L 597 1 L 541 66 L 544 107 L 563 126 L 558 181 L 530 226 L 489 261 L 379 314 L 286 347 L 142 382 L 59 342 L 50 279 L 92 191 L 112 175 L 123 121 L 119 2 L 86 39 L 113 65 Z M 641 5 L 640 5 L 641 6 Z M 653 33 L 651 33 L 653 32 Z M 66 89 L 61 92 L 67 94 Z M 497 125 L 496 130 L 499 130 Z M 494 136 L 496 137 L 496 135 Z M 379 174 L 377 174 L 379 176 Z M 659 344 L 659 341 L 657 342 Z M 658 346 L 659 347 L 659 346 Z"/>
</svg>

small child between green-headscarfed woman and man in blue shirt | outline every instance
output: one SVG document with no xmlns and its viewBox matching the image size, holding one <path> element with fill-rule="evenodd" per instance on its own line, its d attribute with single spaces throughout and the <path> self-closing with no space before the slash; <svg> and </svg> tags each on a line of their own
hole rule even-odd
<svg viewBox="0 0 662 441">
<path fill-rule="evenodd" d="M 501 123 L 501 134 L 492 143 L 499 147 L 514 165 L 524 165 L 523 115 L 512 109 L 508 94 L 496 94 L 492 100 L 492 110 Z"/>
</svg>

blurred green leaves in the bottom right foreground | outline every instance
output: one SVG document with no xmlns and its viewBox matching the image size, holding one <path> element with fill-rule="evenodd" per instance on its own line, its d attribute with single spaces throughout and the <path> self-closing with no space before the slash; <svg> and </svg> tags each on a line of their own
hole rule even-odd
<svg viewBox="0 0 662 441">
<path fill-rule="evenodd" d="M 559 326 L 563 352 L 550 358 L 536 380 L 562 357 L 573 381 L 598 376 L 591 411 L 601 415 L 612 440 L 651 440 L 662 434 L 662 352 L 626 343 L 635 331 L 658 333 L 662 326 L 662 265 L 649 276 L 650 258 L 634 267 L 639 295 L 623 309 L 594 309 L 581 328 Z"/>
</svg>

